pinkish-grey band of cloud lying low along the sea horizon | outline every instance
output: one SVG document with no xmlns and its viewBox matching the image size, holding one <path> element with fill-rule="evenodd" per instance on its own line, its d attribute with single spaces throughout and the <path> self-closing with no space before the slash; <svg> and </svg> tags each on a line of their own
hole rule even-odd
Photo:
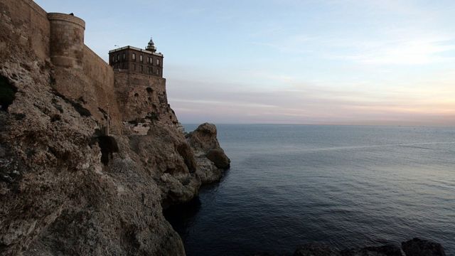
<svg viewBox="0 0 455 256">
<path fill-rule="evenodd" d="M 169 79 L 168 95 L 181 122 L 454 125 L 455 88 L 444 83 L 450 79 L 395 90 L 315 82 L 259 90 L 216 80 Z"/>
</svg>

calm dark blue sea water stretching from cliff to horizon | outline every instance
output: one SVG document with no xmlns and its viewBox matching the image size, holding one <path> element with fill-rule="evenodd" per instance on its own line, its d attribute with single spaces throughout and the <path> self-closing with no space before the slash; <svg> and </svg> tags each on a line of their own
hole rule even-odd
<svg viewBox="0 0 455 256">
<path fill-rule="evenodd" d="M 455 255 L 455 128 L 218 125 L 218 137 L 230 171 L 167 213 L 188 255 L 414 237 Z"/>
</svg>

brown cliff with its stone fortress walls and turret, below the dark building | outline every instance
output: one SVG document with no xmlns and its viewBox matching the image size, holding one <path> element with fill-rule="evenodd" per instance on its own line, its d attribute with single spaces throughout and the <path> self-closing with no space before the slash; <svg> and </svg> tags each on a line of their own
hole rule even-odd
<svg viewBox="0 0 455 256">
<path fill-rule="evenodd" d="M 181 132 L 163 78 L 119 83 L 82 22 L 0 3 L 0 255 L 184 255 L 162 210 L 228 168 L 216 129 Z"/>
</svg>

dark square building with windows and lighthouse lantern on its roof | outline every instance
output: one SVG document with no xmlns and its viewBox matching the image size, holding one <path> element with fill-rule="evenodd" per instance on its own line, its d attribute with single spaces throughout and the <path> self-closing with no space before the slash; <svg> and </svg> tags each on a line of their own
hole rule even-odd
<svg viewBox="0 0 455 256">
<path fill-rule="evenodd" d="M 145 50 L 133 46 L 109 50 L 109 65 L 114 68 L 114 71 L 163 77 L 163 54 L 156 53 L 156 47 L 151 38 Z"/>
</svg>

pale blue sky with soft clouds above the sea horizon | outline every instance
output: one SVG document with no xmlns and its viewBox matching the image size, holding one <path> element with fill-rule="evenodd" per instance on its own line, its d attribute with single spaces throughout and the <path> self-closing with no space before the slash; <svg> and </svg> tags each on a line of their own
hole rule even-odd
<svg viewBox="0 0 455 256">
<path fill-rule="evenodd" d="M 182 123 L 455 126 L 455 1 L 37 0 L 164 54 Z"/>
</svg>

